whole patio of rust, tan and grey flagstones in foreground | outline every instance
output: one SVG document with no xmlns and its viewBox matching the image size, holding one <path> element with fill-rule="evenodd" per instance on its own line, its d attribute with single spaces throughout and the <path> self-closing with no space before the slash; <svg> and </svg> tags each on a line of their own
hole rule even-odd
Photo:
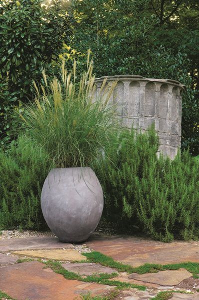
<svg viewBox="0 0 199 300">
<path fill-rule="evenodd" d="M 79 245 L 80 246 L 80 245 Z M 185 268 L 165 270 L 156 273 L 126 273 L 93 263 L 80 253 L 78 245 L 60 242 L 52 236 L 0 239 L 0 291 L 16 300 L 80 300 L 83 294 L 91 296 L 109 293 L 115 286 L 96 282 L 66 279 L 62 274 L 46 267 L 48 259 L 59 261 L 61 266 L 80 276 L 99 273 L 118 273 L 110 280 L 144 285 L 147 289 L 130 288 L 121 290 L 115 299 L 153 299 L 160 291 L 175 290 L 172 300 L 199 299 L 199 279 Z M 133 267 L 148 263 L 199 262 L 199 242 L 174 241 L 163 243 L 147 238 L 132 236 L 93 235 L 85 247 L 111 256 L 119 262 Z M 88 248 L 87 248 L 88 249 Z M 20 258 L 32 261 L 18 262 Z M 40 258 L 39 261 L 37 261 Z M 83 260 L 83 261 L 82 261 Z M 82 261 L 82 262 L 81 262 Z M 188 291 L 192 293 L 181 293 Z"/>
</svg>

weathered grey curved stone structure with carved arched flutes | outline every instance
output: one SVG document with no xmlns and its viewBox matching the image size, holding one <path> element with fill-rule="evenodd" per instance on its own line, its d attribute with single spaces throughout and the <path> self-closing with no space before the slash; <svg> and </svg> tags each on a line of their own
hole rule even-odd
<svg viewBox="0 0 199 300">
<path fill-rule="evenodd" d="M 95 98 L 106 76 L 96 78 Z M 160 151 L 172 159 L 181 147 L 182 93 L 184 85 L 176 80 L 144 78 L 138 75 L 106 77 L 106 85 L 118 80 L 111 96 L 117 103 L 122 126 L 147 128 L 155 122 L 160 137 Z"/>
</svg>

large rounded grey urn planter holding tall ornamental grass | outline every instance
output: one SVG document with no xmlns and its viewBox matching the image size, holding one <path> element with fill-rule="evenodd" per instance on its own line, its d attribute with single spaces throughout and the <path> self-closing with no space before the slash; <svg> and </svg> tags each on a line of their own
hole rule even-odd
<svg viewBox="0 0 199 300">
<path fill-rule="evenodd" d="M 86 240 L 99 223 L 103 204 L 102 187 L 90 167 L 51 169 L 43 184 L 43 216 L 63 242 Z"/>
</svg>

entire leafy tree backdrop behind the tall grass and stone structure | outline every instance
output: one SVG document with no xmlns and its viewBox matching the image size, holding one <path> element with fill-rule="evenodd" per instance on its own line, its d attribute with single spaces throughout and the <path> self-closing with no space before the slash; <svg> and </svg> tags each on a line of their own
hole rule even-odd
<svg viewBox="0 0 199 300">
<path fill-rule="evenodd" d="M 34 98 L 32 80 L 59 61 L 96 76 L 140 74 L 187 86 L 182 147 L 199 154 L 198 0 L 0 0 L 0 142 L 13 138 L 13 110 Z M 79 72 L 79 73 L 80 73 Z"/>
</svg>

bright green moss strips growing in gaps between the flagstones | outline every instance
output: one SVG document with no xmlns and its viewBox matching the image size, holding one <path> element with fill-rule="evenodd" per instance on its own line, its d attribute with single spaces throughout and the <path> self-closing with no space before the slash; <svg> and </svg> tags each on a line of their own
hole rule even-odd
<svg viewBox="0 0 199 300">
<path fill-rule="evenodd" d="M 189 272 L 191 272 L 195 278 L 199 278 L 198 262 L 182 262 L 182 263 L 164 264 L 164 265 L 145 263 L 139 267 L 132 267 L 131 265 L 115 261 L 112 257 L 102 254 L 98 251 L 92 251 L 90 253 L 82 253 L 82 254 L 85 255 L 87 259 L 90 260 L 91 262 L 100 263 L 101 265 L 115 268 L 117 271 L 144 274 L 144 273 L 152 273 L 152 272 L 158 272 L 164 270 L 177 270 L 183 267 L 187 269 Z M 24 262 L 30 260 L 34 260 L 34 259 L 31 258 L 18 259 L 17 262 Z M 116 285 L 117 289 L 128 289 L 128 288 L 138 288 L 140 290 L 146 289 L 146 286 L 144 285 L 121 282 L 119 280 L 109 280 L 110 278 L 118 276 L 117 273 L 112 273 L 112 274 L 101 273 L 97 275 L 88 275 L 82 277 L 77 273 L 66 270 L 58 261 L 47 260 L 46 262 L 44 262 L 41 259 L 37 259 L 37 260 L 44 263 L 45 267 L 50 267 L 54 272 L 62 274 L 66 279 L 71 279 L 71 280 L 76 279 L 85 282 L 96 282 L 99 284 Z M 78 261 L 78 262 L 85 262 L 85 260 Z M 111 300 L 114 299 L 114 297 L 116 297 L 116 294 L 114 295 L 114 292 L 115 291 L 113 291 L 113 293 L 108 296 L 95 296 L 95 297 L 92 297 L 90 296 L 90 294 L 87 294 L 82 296 L 82 300 L 90 300 L 90 299 Z M 168 300 L 172 297 L 174 292 L 185 293 L 184 291 L 180 291 L 180 290 L 161 291 L 153 299 Z"/>
</svg>

